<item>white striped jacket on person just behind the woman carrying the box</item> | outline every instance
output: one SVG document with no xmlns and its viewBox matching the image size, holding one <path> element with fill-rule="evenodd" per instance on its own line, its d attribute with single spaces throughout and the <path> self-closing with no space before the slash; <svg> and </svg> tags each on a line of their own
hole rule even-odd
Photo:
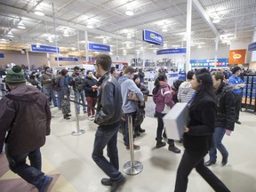
<svg viewBox="0 0 256 192">
<path fill-rule="evenodd" d="M 192 89 L 190 82 L 183 82 L 180 84 L 179 92 L 178 92 L 178 100 L 180 102 L 188 102 L 191 100 L 195 90 Z"/>
</svg>

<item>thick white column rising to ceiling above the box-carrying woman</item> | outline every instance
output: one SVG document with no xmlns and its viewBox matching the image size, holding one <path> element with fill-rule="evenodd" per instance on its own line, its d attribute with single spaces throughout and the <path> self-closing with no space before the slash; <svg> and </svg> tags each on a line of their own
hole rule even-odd
<svg viewBox="0 0 256 192">
<path fill-rule="evenodd" d="M 190 39 L 191 39 L 191 12 L 192 12 L 192 0 L 187 1 L 187 54 L 186 54 L 186 73 L 191 69 L 190 66 Z"/>
</svg>

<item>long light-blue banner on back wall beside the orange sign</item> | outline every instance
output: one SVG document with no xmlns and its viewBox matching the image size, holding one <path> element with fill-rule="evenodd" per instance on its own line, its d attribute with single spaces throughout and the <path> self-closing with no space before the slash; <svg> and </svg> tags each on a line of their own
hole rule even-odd
<svg viewBox="0 0 256 192">
<path fill-rule="evenodd" d="M 192 68 L 212 68 L 215 67 L 215 60 L 190 60 Z M 222 58 L 216 60 L 217 68 L 218 67 L 228 67 L 228 58 Z"/>
</svg>

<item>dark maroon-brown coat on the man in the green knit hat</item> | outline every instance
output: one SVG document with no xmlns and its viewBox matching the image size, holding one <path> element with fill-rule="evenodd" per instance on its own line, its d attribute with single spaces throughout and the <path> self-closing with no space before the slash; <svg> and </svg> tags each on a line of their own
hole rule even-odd
<svg viewBox="0 0 256 192">
<path fill-rule="evenodd" d="M 31 85 L 19 85 L 0 100 L 0 151 L 5 143 L 11 156 L 40 148 L 50 134 L 51 111 L 45 95 Z"/>
</svg>

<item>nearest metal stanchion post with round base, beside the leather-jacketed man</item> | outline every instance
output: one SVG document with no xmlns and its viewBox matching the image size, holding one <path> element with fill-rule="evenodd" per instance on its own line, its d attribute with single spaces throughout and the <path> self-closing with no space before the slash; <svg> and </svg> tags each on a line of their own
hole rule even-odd
<svg viewBox="0 0 256 192">
<path fill-rule="evenodd" d="M 135 175 L 142 172 L 143 165 L 139 161 L 134 161 L 134 148 L 133 148 L 133 129 L 132 129 L 132 116 L 128 116 L 128 131 L 129 131 L 129 146 L 131 161 L 124 164 L 124 172 L 129 175 Z"/>
</svg>

